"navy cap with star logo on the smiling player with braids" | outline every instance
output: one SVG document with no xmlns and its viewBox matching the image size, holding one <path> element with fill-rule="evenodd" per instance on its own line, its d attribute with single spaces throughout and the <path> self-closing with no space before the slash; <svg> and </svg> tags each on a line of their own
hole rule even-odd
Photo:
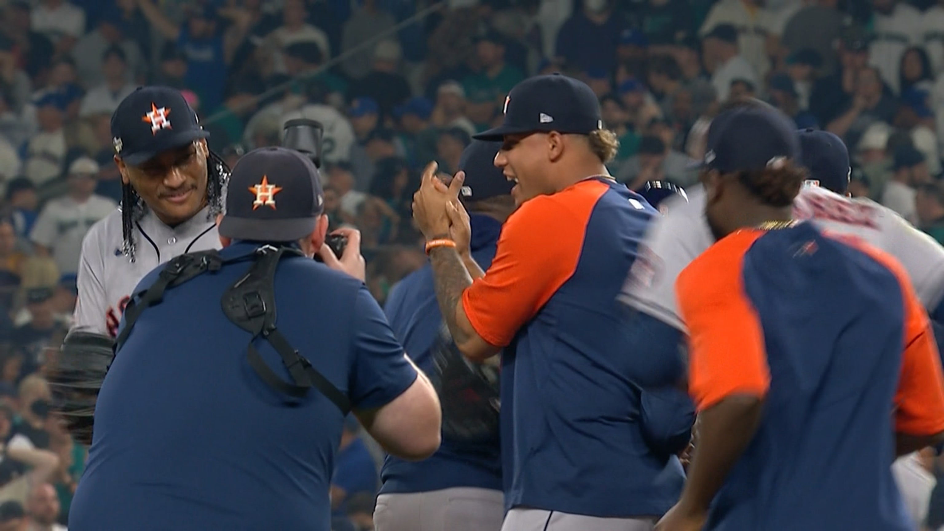
<svg viewBox="0 0 944 531">
<path fill-rule="evenodd" d="M 111 114 L 115 154 L 132 166 L 209 136 L 183 94 L 170 87 L 140 87 Z"/>
</svg>

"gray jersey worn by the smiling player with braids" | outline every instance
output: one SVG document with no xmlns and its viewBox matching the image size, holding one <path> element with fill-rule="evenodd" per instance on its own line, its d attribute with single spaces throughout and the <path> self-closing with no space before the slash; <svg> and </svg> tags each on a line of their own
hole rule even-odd
<svg viewBox="0 0 944 531">
<path fill-rule="evenodd" d="M 134 224 L 133 263 L 122 253 L 121 211 L 95 223 L 82 242 L 73 327 L 116 336 L 131 292 L 144 275 L 175 256 L 220 248 L 216 224 L 207 220 L 207 213 L 204 208 L 172 229 L 147 210 Z"/>
</svg>

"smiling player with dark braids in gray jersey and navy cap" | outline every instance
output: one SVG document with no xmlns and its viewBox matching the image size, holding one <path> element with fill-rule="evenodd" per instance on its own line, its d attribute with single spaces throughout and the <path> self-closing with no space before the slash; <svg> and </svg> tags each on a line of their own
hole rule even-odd
<svg viewBox="0 0 944 531">
<path fill-rule="evenodd" d="M 196 112 L 168 87 L 128 94 L 111 115 L 111 136 L 122 200 L 82 243 L 74 328 L 114 337 L 148 271 L 219 248 L 215 217 L 228 167 L 211 153 Z"/>
</svg>

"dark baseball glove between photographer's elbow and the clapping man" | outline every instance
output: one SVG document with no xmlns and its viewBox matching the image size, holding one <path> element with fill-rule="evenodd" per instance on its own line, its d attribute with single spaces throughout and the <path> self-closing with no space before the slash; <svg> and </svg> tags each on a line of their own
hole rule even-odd
<svg viewBox="0 0 944 531">
<path fill-rule="evenodd" d="M 431 349 L 430 381 L 443 406 L 443 436 L 455 441 L 497 442 L 498 368 L 465 358 L 444 324 Z"/>
</svg>

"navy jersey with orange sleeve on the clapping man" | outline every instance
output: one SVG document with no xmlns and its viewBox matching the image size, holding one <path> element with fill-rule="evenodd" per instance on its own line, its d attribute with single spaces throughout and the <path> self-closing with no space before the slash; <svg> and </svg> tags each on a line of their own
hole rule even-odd
<svg viewBox="0 0 944 531">
<path fill-rule="evenodd" d="M 508 219 L 492 265 L 465 290 L 476 332 L 505 348 L 508 508 L 632 517 L 678 499 L 681 465 L 655 456 L 640 430 L 634 351 L 615 300 L 656 214 L 602 178 L 535 197 Z"/>
</svg>

